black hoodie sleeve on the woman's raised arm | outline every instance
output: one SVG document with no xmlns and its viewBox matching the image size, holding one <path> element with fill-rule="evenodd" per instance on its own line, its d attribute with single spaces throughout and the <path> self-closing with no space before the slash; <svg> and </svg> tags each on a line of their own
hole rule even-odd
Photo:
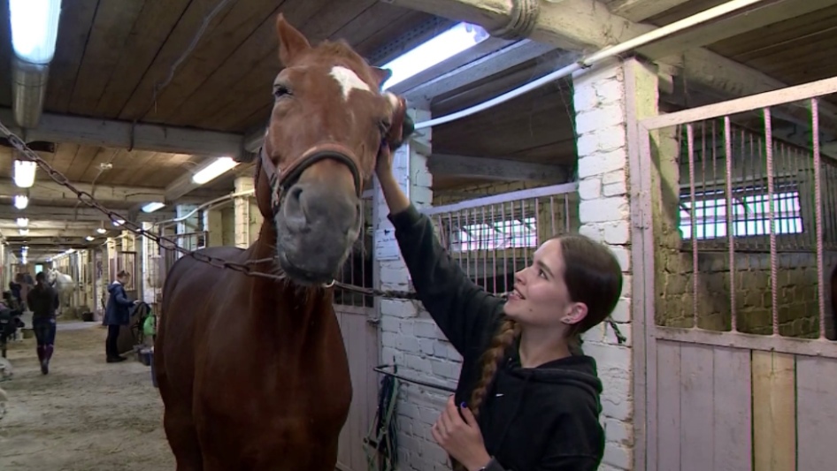
<svg viewBox="0 0 837 471">
<path fill-rule="evenodd" d="M 465 275 L 434 233 L 433 222 L 413 205 L 388 216 L 410 271 L 412 284 L 427 312 L 457 352 L 481 348 L 486 330 L 504 301 Z"/>
</svg>

